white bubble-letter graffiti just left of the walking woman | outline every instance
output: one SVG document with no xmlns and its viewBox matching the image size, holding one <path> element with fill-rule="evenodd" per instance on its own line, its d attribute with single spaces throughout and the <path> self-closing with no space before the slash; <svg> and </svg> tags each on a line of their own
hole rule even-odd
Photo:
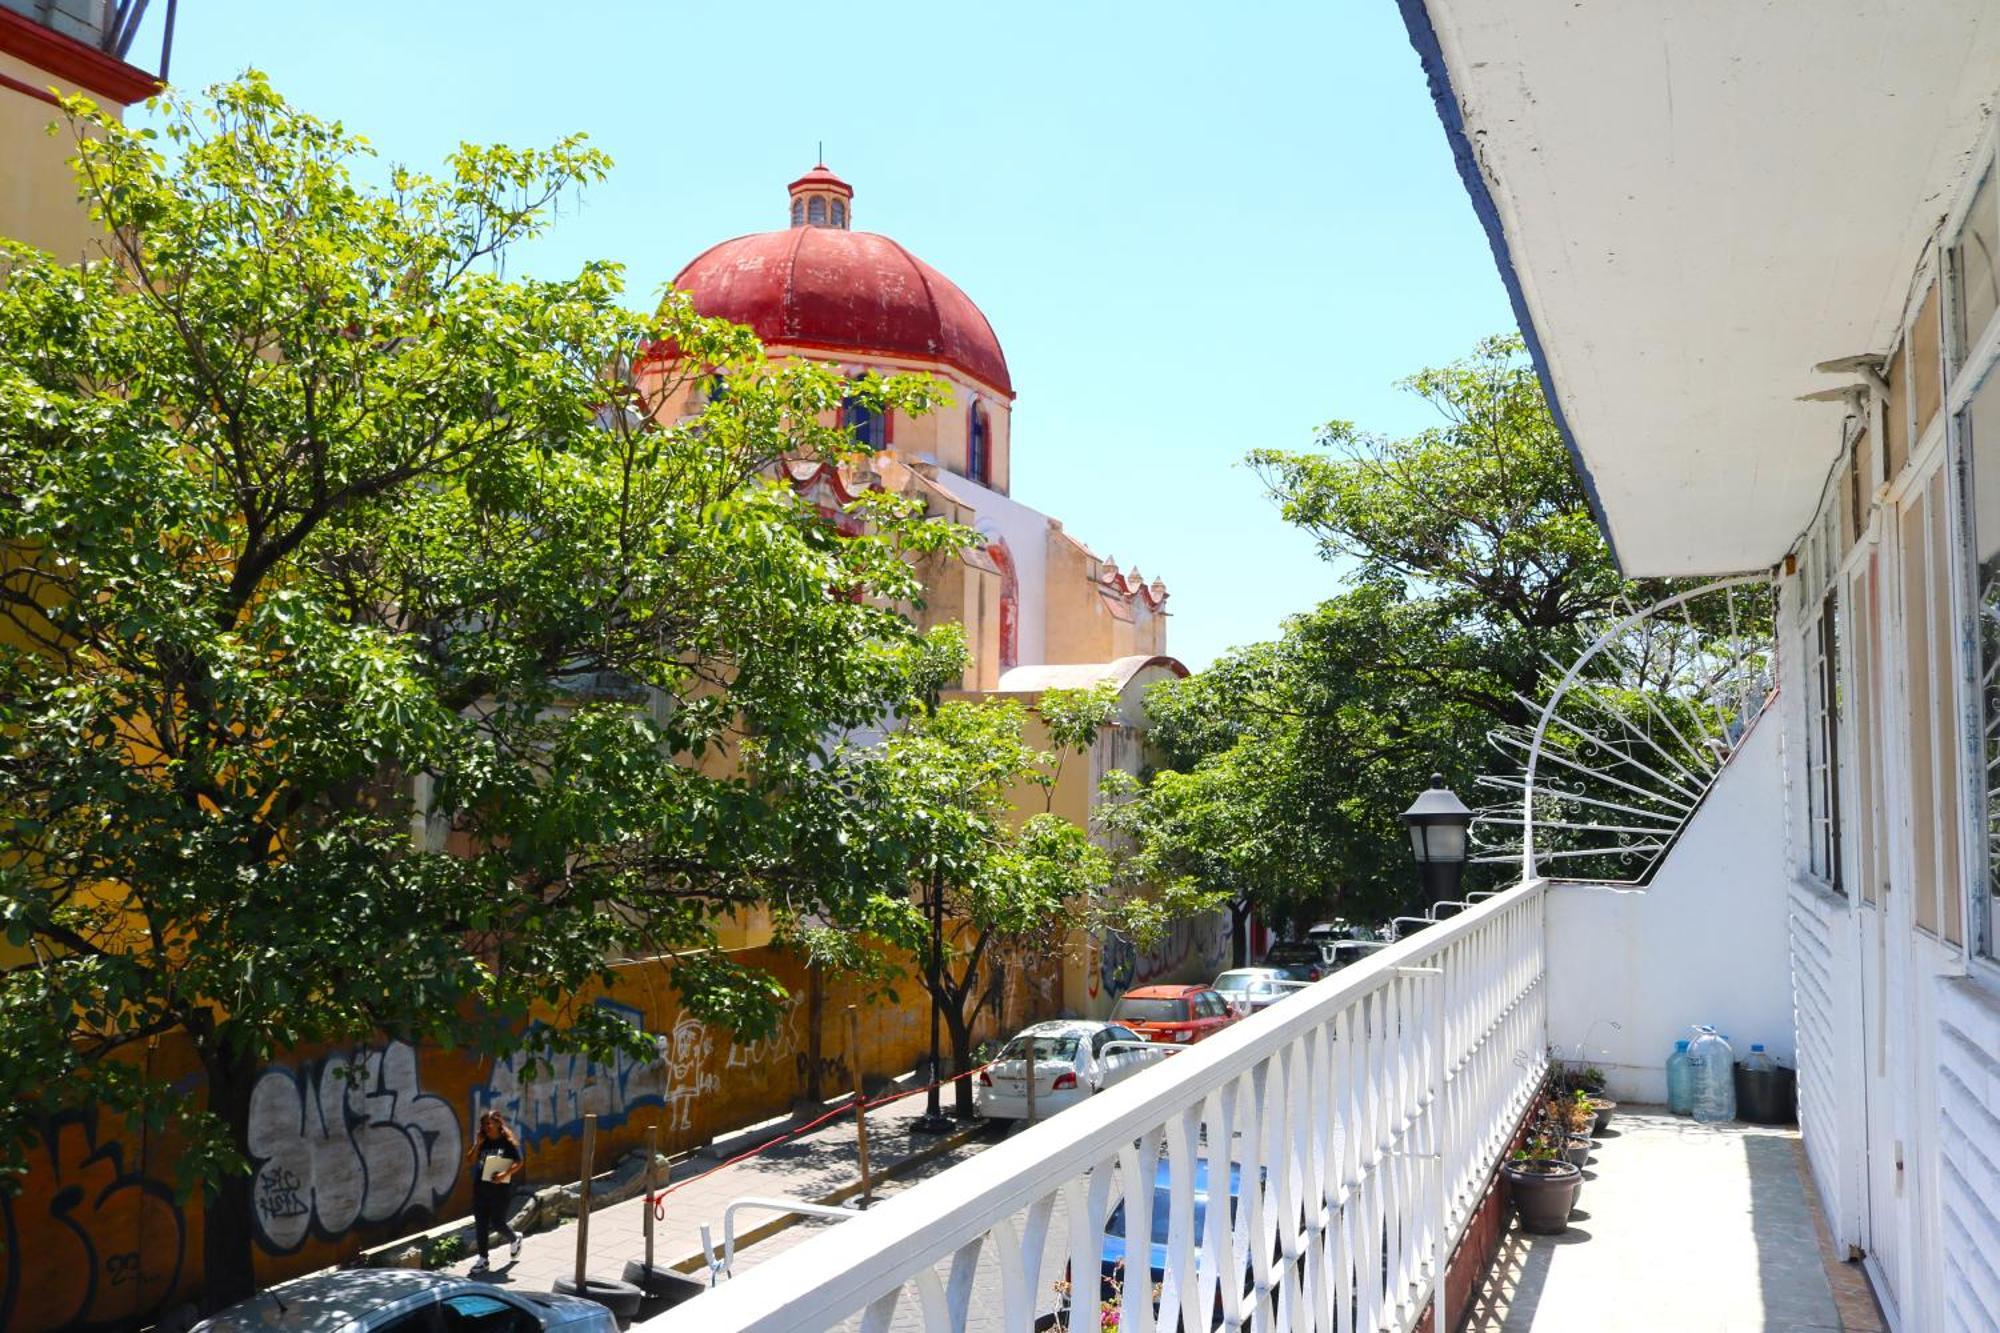
<svg viewBox="0 0 2000 1333">
<path fill-rule="evenodd" d="M 408 1043 L 272 1065 L 250 1093 L 258 1239 L 290 1253 L 308 1235 L 436 1209 L 458 1151 L 458 1115 L 420 1087 Z"/>
</svg>

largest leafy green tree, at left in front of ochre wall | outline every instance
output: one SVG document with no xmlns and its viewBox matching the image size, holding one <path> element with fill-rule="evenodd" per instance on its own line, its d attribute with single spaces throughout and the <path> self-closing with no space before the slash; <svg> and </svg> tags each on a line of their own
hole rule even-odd
<svg viewBox="0 0 2000 1333">
<path fill-rule="evenodd" d="M 772 480 L 852 450 L 846 394 L 928 382 L 768 364 L 612 264 L 502 274 L 606 170 L 580 140 L 366 184 L 260 76 L 166 110 L 70 104 L 100 260 L 0 250 L 0 1149 L 64 1105 L 180 1113 L 128 1057 L 184 1029 L 214 1305 L 252 1289 L 284 1049 L 506 1051 L 628 953 L 772 1021 L 710 923 L 878 883 L 826 737 L 908 693 L 896 606 L 964 534 L 878 496 L 842 536 Z M 556 1041 L 644 1053 L 594 1007 Z"/>
</svg>

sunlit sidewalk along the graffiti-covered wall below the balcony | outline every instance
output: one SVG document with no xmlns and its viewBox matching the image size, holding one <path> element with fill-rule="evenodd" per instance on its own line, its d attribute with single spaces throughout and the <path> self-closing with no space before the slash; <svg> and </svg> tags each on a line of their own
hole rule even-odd
<svg viewBox="0 0 2000 1333">
<path fill-rule="evenodd" d="M 946 1091 L 950 1105 L 950 1091 Z M 934 1149 L 938 1143 L 952 1143 L 960 1137 L 912 1135 L 910 1125 L 924 1113 L 924 1097 L 902 1097 L 886 1107 L 868 1113 L 868 1163 L 870 1173 L 880 1175 L 894 1163 Z M 968 1125 L 972 1129 L 972 1125 Z M 964 1143 L 946 1157 L 970 1157 L 984 1143 Z M 944 1163 L 940 1163 L 944 1165 Z M 854 1115 L 840 1115 L 808 1135 L 788 1143 L 762 1149 L 756 1157 L 716 1169 L 718 1163 L 706 1157 L 690 1157 L 674 1167 L 672 1183 L 680 1185 L 666 1197 L 666 1217 L 654 1223 L 654 1263 L 676 1267 L 686 1259 L 696 1259 L 702 1251 L 702 1225 L 706 1223 L 716 1249 L 722 1249 L 722 1211 L 744 1197 L 798 1199 L 818 1203 L 828 1195 L 852 1187 L 860 1181 L 860 1153 L 856 1149 Z M 702 1173 L 708 1175 L 702 1175 Z M 700 1177 L 700 1179 L 696 1179 Z M 682 1185 L 682 1181 L 692 1181 Z M 646 1197 L 626 1199 L 590 1211 L 590 1277 L 622 1277 L 626 1261 L 644 1257 L 644 1217 Z M 742 1235 L 778 1215 L 770 1211 L 738 1213 L 738 1245 Z M 576 1223 L 566 1221 L 554 1231 L 538 1231 L 524 1237 L 520 1259 L 506 1261 L 506 1245 L 494 1241 L 492 1271 L 486 1281 L 496 1285 L 522 1287 L 526 1291 L 548 1291 L 558 1277 L 576 1275 Z M 476 1253 L 442 1269 L 446 1273 L 468 1275 Z M 706 1269 L 696 1269 L 696 1277 L 706 1281 Z"/>
</svg>

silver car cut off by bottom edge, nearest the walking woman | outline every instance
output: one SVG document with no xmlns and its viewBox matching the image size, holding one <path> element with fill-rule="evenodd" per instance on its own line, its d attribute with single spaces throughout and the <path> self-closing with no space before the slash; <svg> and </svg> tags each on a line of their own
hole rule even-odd
<svg viewBox="0 0 2000 1333">
<path fill-rule="evenodd" d="M 278 1283 L 192 1333 L 616 1333 L 602 1305 L 418 1269 L 344 1269 Z"/>
</svg>

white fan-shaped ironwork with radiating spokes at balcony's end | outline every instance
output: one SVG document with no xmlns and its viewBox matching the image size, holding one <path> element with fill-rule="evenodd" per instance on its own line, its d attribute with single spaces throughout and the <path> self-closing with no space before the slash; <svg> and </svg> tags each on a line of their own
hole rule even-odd
<svg viewBox="0 0 2000 1333">
<path fill-rule="evenodd" d="M 1676 592 L 1618 616 L 1562 669 L 1534 727 L 1488 733 L 1522 773 L 1472 823 L 1476 861 L 1522 875 L 1644 883 L 1772 695 L 1762 574 Z"/>
</svg>

